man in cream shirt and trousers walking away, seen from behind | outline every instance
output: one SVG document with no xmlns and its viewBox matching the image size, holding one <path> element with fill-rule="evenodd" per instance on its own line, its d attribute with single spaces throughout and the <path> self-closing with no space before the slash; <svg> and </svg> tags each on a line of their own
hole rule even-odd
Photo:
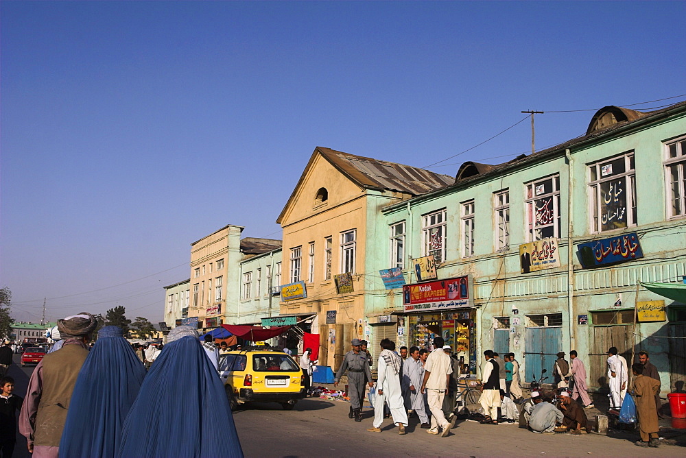
<svg viewBox="0 0 686 458">
<path fill-rule="evenodd" d="M 427 362 L 424 365 L 424 380 L 422 381 L 421 392 L 427 393 L 427 404 L 431 411 L 431 429 L 427 431 L 429 434 L 438 434 L 438 427 L 443 431 L 441 437 L 446 437 L 450 433 L 450 429 L 455 426 L 457 417 L 453 417 L 453 422 L 448 422 L 443 415 L 441 407 L 443 405 L 443 398 L 445 391 L 447 391 L 450 383 L 450 374 L 453 373 L 453 367 L 450 363 L 450 357 L 443 351 L 443 338 L 438 336 L 434 338 L 434 348 L 427 357 Z"/>
</svg>

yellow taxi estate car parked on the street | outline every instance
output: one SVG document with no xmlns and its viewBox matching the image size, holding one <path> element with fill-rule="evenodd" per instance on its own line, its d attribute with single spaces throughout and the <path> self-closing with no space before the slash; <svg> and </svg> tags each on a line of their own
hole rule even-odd
<svg viewBox="0 0 686 458">
<path fill-rule="evenodd" d="M 291 410 L 305 397 L 300 365 L 278 350 L 250 348 L 221 354 L 219 374 L 231 410 L 250 401 L 279 402 Z"/>
</svg>

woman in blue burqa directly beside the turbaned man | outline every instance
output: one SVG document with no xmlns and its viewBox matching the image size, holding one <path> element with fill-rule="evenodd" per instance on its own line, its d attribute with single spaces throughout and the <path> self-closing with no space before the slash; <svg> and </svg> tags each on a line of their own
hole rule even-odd
<svg viewBox="0 0 686 458">
<path fill-rule="evenodd" d="M 114 457 L 126 414 L 144 377 L 145 367 L 121 328 L 102 328 L 76 379 L 60 458 Z"/>
</svg>

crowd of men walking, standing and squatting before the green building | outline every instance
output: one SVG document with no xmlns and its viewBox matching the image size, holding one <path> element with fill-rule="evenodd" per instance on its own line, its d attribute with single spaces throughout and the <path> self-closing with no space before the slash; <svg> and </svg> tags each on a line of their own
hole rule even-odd
<svg viewBox="0 0 686 458">
<path fill-rule="evenodd" d="M 410 415 L 416 415 L 420 428 L 427 433 L 446 437 L 464 415 L 464 392 L 469 389 L 460 383 L 461 365 L 452 354 L 450 346 L 444 345 L 442 337 L 435 337 L 433 350 L 405 346 L 396 352 L 390 339 L 380 342 L 377 359 L 377 380 L 372 380 L 370 367 L 372 355 L 367 342 L 353 339 L 353 349 L 347 352 L 334 378 L 338 386 L 341 377 L 348 375 L 348 396 L 351 401 L 348 416 L 362 421 L 361 409 L 366 385 L 370 387 L 369 400 L 374 408 L 372 427 L 367 431 L 381 433 L 384 418 L 392 418 L 399 434 L 405 434 Z M 632 389 L 628 385 L 626 359 L 611 347 L 607 359 L 607 376 L 610 393 L 611 415 L 619 415 L 626 395 L 636 398 L 637 418 L 641 440 L 639 446 L 657 446 L 658 416 L 661 402 L 660 378 L 657 367 L 650 363 L 648 352 L 638 354 L 638 362 L 630 367 L 633 374 Z M 587 372 L 578 352 L 559 352 L 552 367 L 553 389 L 543 391 L 539 383 L 531 384 L 530 398 L 521 389 L 519 363 L 514 353 L 502 357 L 493 350 L 484 352 L 480 387 L 480 413 L 465 419 L 475 419 L 482 424 L 519 423 L 533 433 L 554 434 L 587 433 L 589 422 L 584 409 L 595 407 L 589 396 Z M 543 378 L 541 378 L 543 380 Z M 457 409 L 459 402 L 462 403 Z M 466 411 L 469 413 L 469 411 Z"/>
</svg>

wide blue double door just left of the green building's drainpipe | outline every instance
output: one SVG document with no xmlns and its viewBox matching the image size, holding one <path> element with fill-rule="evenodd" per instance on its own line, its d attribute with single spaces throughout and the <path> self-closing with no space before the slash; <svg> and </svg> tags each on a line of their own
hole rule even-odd
<svg viewBox="0 0 686 458">
<path fill-rule="evenodd" d="M 543 369 L 548 377 L 545 383 L 553 383 L 553 365 L 562 350 L 562 328 L 526 328 L 524 352 L 524 381 L 538 380 Z"/>
</svg>

